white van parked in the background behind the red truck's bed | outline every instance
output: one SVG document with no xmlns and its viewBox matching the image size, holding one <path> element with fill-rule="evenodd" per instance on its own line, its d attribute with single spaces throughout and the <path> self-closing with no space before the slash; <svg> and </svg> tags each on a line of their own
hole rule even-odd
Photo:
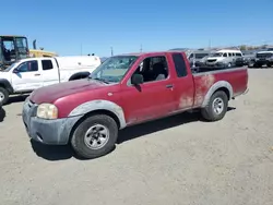
<svg viewBox="0 0 273 205">
<path fill-rule="evenodd" d="M 212 57 L 209 57 L 205 61 L 205 65 L 232 68 L 236 65 L 236 59 L 241 57 L 242 53 L 240 50 L 223 49 L 216 51 Z"/>
</svg>

